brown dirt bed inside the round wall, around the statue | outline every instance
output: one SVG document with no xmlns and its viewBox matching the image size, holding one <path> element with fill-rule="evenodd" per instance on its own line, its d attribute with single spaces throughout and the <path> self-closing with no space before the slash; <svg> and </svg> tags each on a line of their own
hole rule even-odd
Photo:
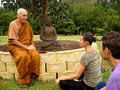
<svg viewBox="0 0 120 90">
<path fill-rule="evenodd" d="M 81 48 L 79 41 L 74 40 L 58 40 L 58 47 L 50 47 L 41 49 L 41 41 L 34 41 L 37 51 L 63 51 Z M 0 51 L 9 52 L 7 44 L 0 45 Z"/>
</svg>

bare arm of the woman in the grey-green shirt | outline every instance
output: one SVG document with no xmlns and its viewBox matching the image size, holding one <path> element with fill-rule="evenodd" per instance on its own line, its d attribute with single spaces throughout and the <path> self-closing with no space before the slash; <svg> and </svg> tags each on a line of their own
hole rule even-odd
<svg viewBox="0 0 120 90">
<path fill-rule="evenodd" d="M 75 74 L 73 75 L 69 75 L 69 76 L 61 76 L 58 79 L 56 79 L 56 84 L 58 85 L 60 80 L 73 80 L 73 79 L 78 79 L 81 74 L 83 73 L 83 71 L 85 70 L 85 65 L 80 64 L 80 66 L 78 67 L 77 71 Z"/>
</svg>

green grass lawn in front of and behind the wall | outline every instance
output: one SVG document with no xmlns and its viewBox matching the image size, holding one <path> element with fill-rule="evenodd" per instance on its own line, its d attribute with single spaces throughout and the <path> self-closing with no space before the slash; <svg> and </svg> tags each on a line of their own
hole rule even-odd
<svg viewBox="0 0 120 90">
<path fill-rule="evenodd" d="M 69 36 L 63 36 L 58 35 L 58 40 L 79 40 L 79 35 L 69 35 Z M 97 36 L 98 39 L 101 38 L 101 36 Z M 1 43 L 7 43 L 7 36 L 0 36 Z M 34 35 L 34 40 L 40 40 L 39 35 Z M 98 48 L 100 49 L 100 41 L 97 41 Z M 111 73 L 111 67 L 108 65 L 106 61 L 103 60 L 102 66 L 107 68 L 108 71 L 105 73 L 102 73 L 103 81 L 107 82 L 108 77 Z M 15 80 L 4 80 L 0 78 L 0 90 L 60 90 L 58 86 L 55 85 L 55 81 L 46 81 L 43 82 L 42 80 L 39 80 L 38 82 L 35 82 L 33 86 L 25 89 L 21 89 L 18 87 Z"/>
</svg>

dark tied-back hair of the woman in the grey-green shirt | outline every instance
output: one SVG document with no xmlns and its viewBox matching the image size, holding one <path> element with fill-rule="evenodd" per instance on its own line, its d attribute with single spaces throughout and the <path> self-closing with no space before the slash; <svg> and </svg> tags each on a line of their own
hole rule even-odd
<svg viewBox="0 0 120 90">
<path fill-rule="evenodd" d="M 90 45 L 92 44 L 92 42 L 96 42 L 96 38 L 90 32 L 83 33 L 82 36 L 85 41 L 89 42 Z"/>
</svg>

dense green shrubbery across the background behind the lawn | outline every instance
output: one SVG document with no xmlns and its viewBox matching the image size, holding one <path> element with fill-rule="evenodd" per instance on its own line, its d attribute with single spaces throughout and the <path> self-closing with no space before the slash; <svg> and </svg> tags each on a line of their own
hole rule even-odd
<svg viewBox="0 0 120 90">
<path fill-rule="evenodd" d="M 79 0 L 77 3 L 72 3 L 67 0 L 50 3 L 48 15 L 52 18 L 52 25 L 58 34 L 80 34 L 95 28 L 96 35 L 103 35 L 112 30 L 120 32 L 119 6 L 120 3 L 79 2 Z M 13 13 L 6 13 L 3 8 L 0 10 L 0 33 L 6 34 L 9 23 L 15 19 L 15 16 Z M 40 34 L 41 13 L 34 11 L 35 15 L 39 14 L 35 20 L 31 11 L 29 12 L 28 19 L 34 34 Z"/>
</svg>

